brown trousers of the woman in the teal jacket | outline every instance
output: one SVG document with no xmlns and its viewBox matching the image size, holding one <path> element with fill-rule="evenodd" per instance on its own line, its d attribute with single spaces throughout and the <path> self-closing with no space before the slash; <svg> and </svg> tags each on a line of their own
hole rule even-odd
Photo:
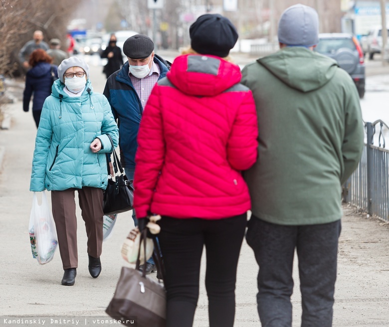
<svg viewBox="0 0 389 327">
<path fill-rule="evenodd" d="M 83 187 L 51 191 L 51 207 L 63 269 L 78 266 L 75 190 L 78 192 L 81 216 L 88 236 L 88 254 L 99 258 L 103 246 L 103 190 L 96 187 Z"/>
</svg>

